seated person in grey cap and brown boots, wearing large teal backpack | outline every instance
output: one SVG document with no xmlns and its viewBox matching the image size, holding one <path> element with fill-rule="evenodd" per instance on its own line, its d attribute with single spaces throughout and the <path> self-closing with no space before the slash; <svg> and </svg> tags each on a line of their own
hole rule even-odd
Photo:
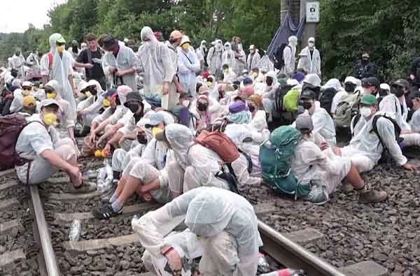
<svg viewBox="0 0 420 276">
<path fill-rule="evenodd" d="M 307 201 L 317 205 L 327 202 L 342 180 L 359 191 L 359 201 L 363 203 L 379 202 L 386 198 L 384 192 L 371 190 L 365 184 L 358 170 L 351 166 L 349 157 L 328 156 L 313 142 L 314 125 L 307 112 L 297 116 L 296 129 L 302 133 L 302 138 L 297 144 L 291 170 L 299 182 L 311 184 L 311 191 L 305 197 Z"/>
</svg>

